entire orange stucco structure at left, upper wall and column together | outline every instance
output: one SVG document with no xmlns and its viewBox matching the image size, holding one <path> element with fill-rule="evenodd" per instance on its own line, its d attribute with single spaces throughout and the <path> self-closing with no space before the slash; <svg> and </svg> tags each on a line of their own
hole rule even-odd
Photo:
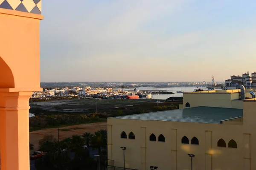
<svg viewBox="0 0 256 170">
<path fill-rule="evenodd" d="M 29 98 L 41 90 L 41 19 L 40 14 L 0 8 L 2 170 L 29 170 Z"/>
</svg>

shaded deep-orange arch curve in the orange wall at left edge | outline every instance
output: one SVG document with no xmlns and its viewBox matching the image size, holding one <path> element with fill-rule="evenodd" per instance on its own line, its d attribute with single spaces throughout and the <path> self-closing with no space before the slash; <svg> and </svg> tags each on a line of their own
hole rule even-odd
<svg viewBox="0 0 256 170">
<path fill-rule="evenodd" d="M 11 68 L 0 57 L 0 88 L 15 88 Z"/>
</svg>

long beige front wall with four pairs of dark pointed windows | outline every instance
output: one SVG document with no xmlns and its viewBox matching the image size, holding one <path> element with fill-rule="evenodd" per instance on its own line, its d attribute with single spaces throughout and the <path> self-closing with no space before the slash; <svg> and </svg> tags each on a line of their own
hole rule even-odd
<svg viewBox="0 0 256 170">
<path fill-rule="evenodd" d="M 225 129 L 225 130 L 224 130 Z M 133 132 L 135 139 L 121 139 L 122 131 Z M 154 133 L 165 136 L 166 142 L 149 141 Z M 181 144 L 183 136 L 191 140 L 196 136 L 199 145 Z M 217 147 L 219 139 L 226 144 L 231 139 L 238 148 Z M 195 154 L 195 170 L 242 170 L 244 168 L 243 126 L 224 124 L 204 124 L 185 122 L 163 122 L 131 119 L 108 119 L 108 159 L 115 165 L 148 170 L 149 166 L 158 166 L 158 170 L 190 170 L 191 159 L 187 155 Z"/>
</svg>

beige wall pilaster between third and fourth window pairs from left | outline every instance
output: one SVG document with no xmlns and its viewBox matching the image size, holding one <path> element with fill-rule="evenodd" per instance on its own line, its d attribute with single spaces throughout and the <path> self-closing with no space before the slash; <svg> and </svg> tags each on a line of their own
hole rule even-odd
<svg viewBox="0 0 256 170">
<path fill-rule="evenodd" d="M 205 131 L 205 170 L 212 170 L 212 131 Z"/>
</svg>

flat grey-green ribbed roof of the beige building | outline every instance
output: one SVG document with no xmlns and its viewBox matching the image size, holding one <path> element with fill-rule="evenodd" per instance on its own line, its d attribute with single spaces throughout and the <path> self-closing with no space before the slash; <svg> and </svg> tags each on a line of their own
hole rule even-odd
<svg viewBox="0 0 256 170">
<path fill-rule="evenodd" d="M 159 120 L 171 122 L 193 122 L 193 123 L 215 123 L 234 119 L 243 116 L 243 109 L 215 108 L 215 107 L 194 107 L 176 109 L 170 111 L 158 111 L 128 116 L 118 116 L 112 119 L 138 119 L 138 120 Z"/>
</svg>

